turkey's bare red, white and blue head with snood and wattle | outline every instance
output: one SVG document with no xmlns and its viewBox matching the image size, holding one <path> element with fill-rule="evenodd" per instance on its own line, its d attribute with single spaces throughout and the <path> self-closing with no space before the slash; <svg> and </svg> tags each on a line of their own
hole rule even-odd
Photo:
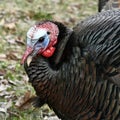
<svg viewBox="0 0 120 120">
<path fill-rule="evenodd" d="M 51 57 L 55 51 L 59 30 L 52 22 L 36 24 L 27 32 L 27 49 L 22 58 L 22 63 L 30 55 L 32 57 L 42 54 Z"/>
</svg>

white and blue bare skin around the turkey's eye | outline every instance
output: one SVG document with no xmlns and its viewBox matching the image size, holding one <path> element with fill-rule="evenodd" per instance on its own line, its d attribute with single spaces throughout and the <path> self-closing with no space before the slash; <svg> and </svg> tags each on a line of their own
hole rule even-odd
<svg viewBox="0 0 120 120">
<path fill-rule="evenodd" d="M 46 30 L 44 29 L 37 29 L 34 30 L 34 28 L 30 28 L 30 30 L 27 33 L 27 46 L 33 48 L 32 55 L 36 55 L 39 51 L 44 51 L 50 42 L 49 35 Z M 34 33 L 34 35 L 31 34 Z"/>
</svg>

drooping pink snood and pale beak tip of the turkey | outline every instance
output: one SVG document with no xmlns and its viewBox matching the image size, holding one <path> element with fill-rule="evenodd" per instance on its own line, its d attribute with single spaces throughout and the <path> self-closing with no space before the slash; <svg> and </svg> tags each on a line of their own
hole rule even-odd
<svg viewBox="0 0 120 120">
<path fill-rule="evenodd" d="M 28 46 L 23 57 L 22 57 L 22 60 L 21 60 L 21 64 L 24 64 L 25 60 L 27 60 L 27 65 L 29 66 L 30 65 L 30 62 L 32 61 L 32 56 L 30 55 L 31 53 L 33 52 L 33 48 Z"/>
</svg>

